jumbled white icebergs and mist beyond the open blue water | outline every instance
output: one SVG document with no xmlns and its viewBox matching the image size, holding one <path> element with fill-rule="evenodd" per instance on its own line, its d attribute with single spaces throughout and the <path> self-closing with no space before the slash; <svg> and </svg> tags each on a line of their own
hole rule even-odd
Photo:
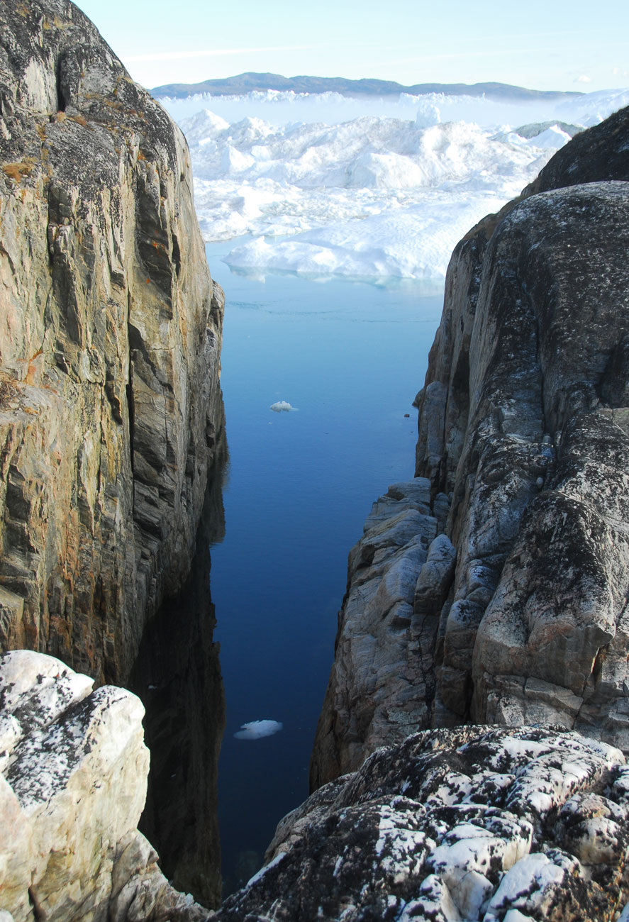
<svg viewBox="0 0 629 922">
<path fill-rule="evenodd" d="M 275 91 L 162 101 L 188 139 L 204 238 L 249 238 L 230 266 L 443 278 L 460 237 L 629 90 L 539 103 Z"/>
</svg>

